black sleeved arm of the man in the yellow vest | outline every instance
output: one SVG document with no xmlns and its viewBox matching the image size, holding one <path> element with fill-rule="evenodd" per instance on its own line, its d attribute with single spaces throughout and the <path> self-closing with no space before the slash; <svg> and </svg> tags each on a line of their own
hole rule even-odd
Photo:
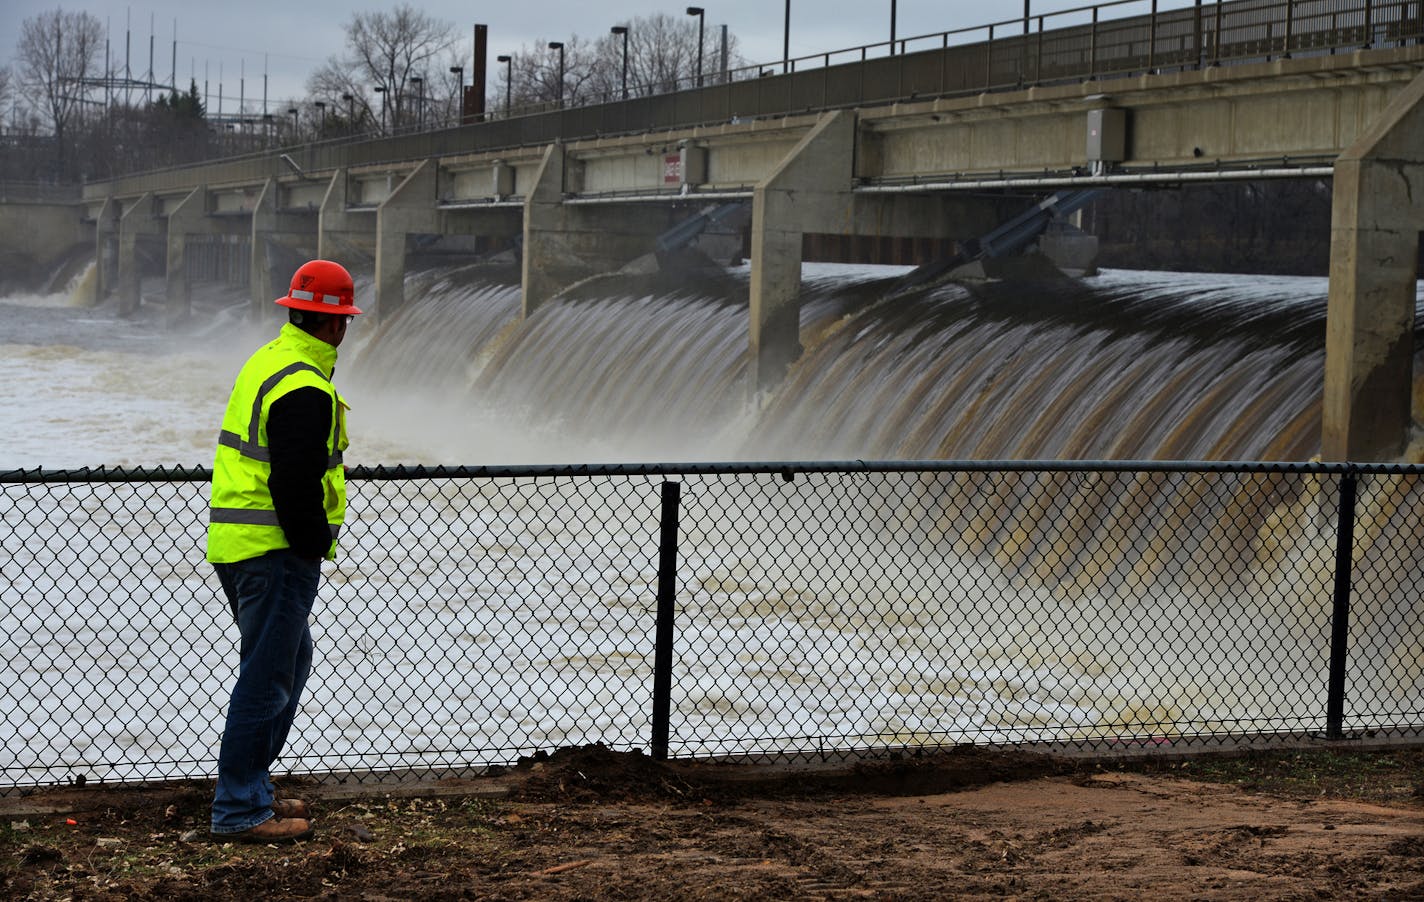
<svg viewBox="0 0 1424 902">
<path fill-rule="evenodd" d="M 332 544 L 322 486 L 330 436 L 332 396 L 322 389 L 293 389 L 272 402 L 268 412 L 268 447 L 272 452 L 268 489 L 276 520 L 299 557 L 326 557 Z"/>
</svg>

